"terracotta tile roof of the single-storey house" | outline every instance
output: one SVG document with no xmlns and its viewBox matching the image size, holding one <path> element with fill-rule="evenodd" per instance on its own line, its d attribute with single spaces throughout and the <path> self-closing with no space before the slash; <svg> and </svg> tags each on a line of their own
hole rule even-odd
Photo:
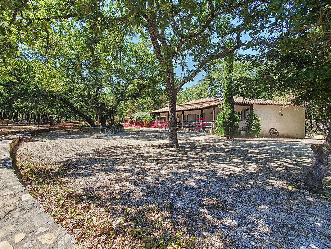
<svg viewBox="0 0 331 249">
<path fill-rule="evenodd" d="M 212 99 L 212 98 L 210 98 Z M 206 99 L 203 99 L 206 100 Z M 216 100 L 216 102 L 214 102 Z M 211 101 L 208 101 L 206 103 L 206 101 L 204 102 L 199 102 L 200 100 L 196 100 L 198 101 L 197 105 L 191 105 L 191 106 L 183 106 L 183 104 L 176 106 L 176 111 L 193 111 L 193 110 L 201 110 L 201 109 L 207 109 L 207 108 L 212 108 L 212 107 L 217 107 L 219 105 L 221 105 L 223 103 L 222 100 L 218 100 L 217 98 L 213 99 L 212 103 L 208 103 Z M 190 101 L 191 102 L 191 101 Z M 187 102 L 187 103 L 190 103 Z M 290 102 L 283 102 L 283 101 L 277 101 L 277 100 L 263 100 L 263 99 L 252 99 L 249 100 L 248 98 L 242 98 L 242 97 L 235 97 L 233 100 L 234 104 L 254 104 L 254 105 L 276 105 L 276 106 L 293 106 L 292 103 Z M 187 104 L 184 103 L 184 104 Z M 152 111 L 150 113 L 166 113 L 168 112 L 168 107 L 164 107 L 155 111 Z"/>
</svg>

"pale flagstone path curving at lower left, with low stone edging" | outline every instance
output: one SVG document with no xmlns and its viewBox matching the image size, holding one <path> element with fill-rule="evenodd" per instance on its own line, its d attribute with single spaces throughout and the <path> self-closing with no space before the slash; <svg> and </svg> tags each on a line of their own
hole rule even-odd
<svg viewBox="0 0 331 249">
<path fill-rule="evenodd" d="M 46 128 L 24 133 L 36 135 L 76 127 Z M 20 183 L 14 171 L 15 162 L 13 163 L 15 160 L 13 149 L 19 141 L 20 136 L 12 141 L 4 140 L 0 143 L 0 248 L 82 248 L 67 230 L 44 211 L 37 200 Z"/>
</svg>

